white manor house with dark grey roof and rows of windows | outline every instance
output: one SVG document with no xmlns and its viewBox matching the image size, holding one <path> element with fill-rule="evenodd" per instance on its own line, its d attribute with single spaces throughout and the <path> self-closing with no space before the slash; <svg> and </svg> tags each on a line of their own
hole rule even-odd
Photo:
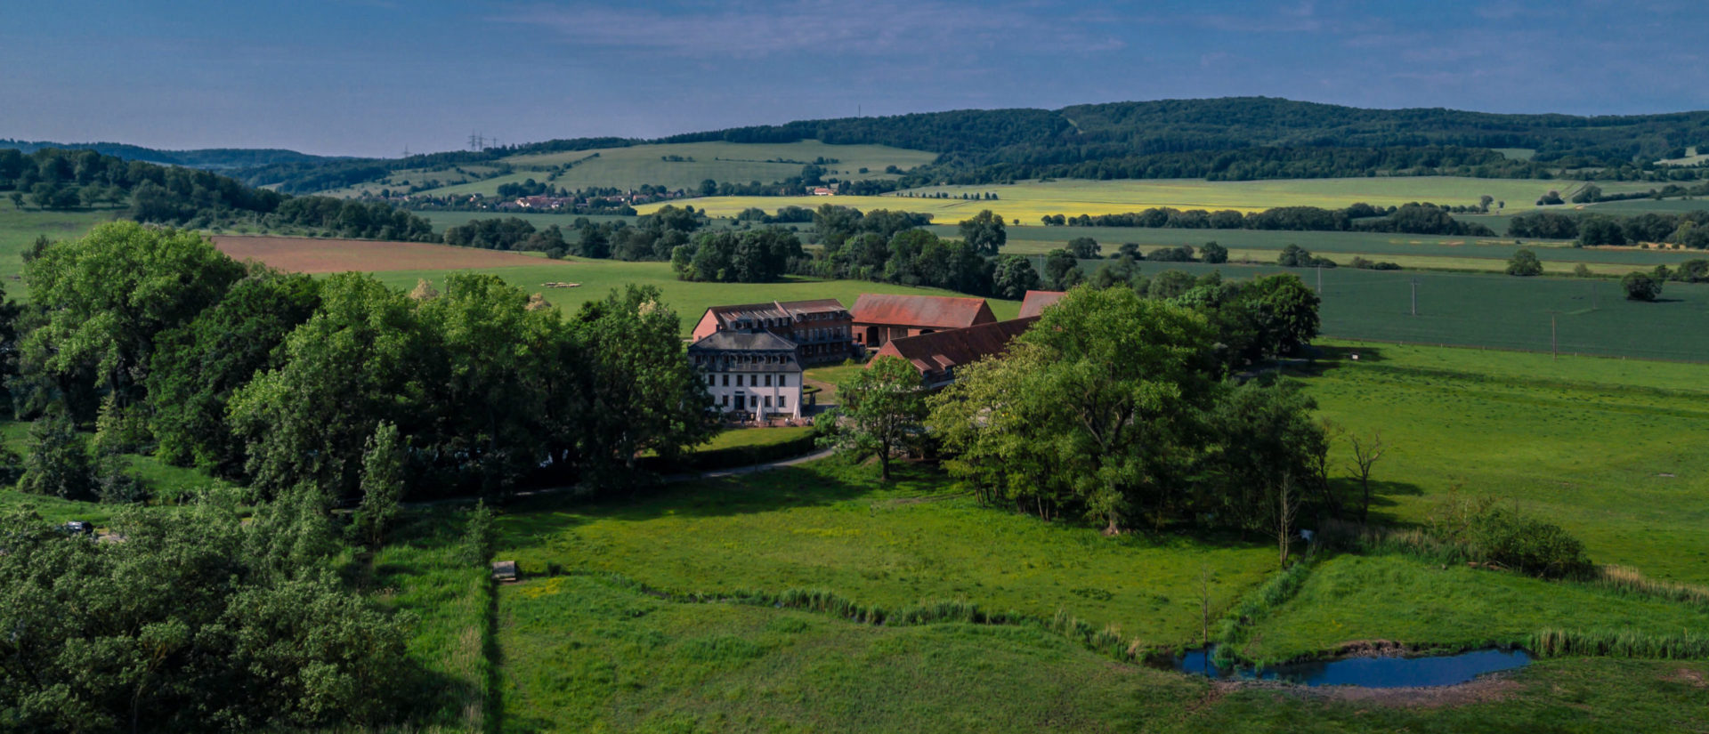
<svg viewBox="0 0 1709 734">
<path fill-rule="evenodd" d="M 800 418 L 796 343 L 769 331 L 718 331 L 689 345 L 713 410 L 737 420 Z"/>
</svg>

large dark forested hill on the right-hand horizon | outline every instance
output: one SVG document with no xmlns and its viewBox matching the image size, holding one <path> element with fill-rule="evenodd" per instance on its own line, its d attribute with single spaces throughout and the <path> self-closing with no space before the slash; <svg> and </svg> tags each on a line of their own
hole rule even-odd
<svg viewBox="0 0 1709 734">
<path fill-rule="evenodd" d="M 1536 160 L 1654 160 L 1709 147 L 1709 111 L 1572 116 L 1494 114 L 1442 108 L 1360 109 L 1275 97 L 1164 99 L 1044 109 L 962 109 L 889 118 L 812 119 L 665 138 L 878 143 L 962 154 L 972 166 L 1070 164 L 1099 157 L 1253 147 L 1531 149 Z M 550 145 L 550 143 L 543 143 Z"/>
</svg>

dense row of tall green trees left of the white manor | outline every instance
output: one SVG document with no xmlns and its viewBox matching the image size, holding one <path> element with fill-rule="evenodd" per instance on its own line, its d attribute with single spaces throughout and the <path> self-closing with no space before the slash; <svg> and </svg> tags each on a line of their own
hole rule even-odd
<svg viewBox="0 0 1709 734">
<path fill-rule="evenodd" d="M 96 427 L 103 456 L 152 452 L 265 497 L 359 497 L 383 423 L 415 498 L 627 478 L 643 451 L 678 456 L 711 430 L 653 288 L 566 319 L 490 275 L 448 275 L 443 292 L 314 280 L 126 222 L 46 248 L 26 278 L 7 381 L 21 417 L 63 415 Z M 91 498 L 97 481 L 56 486 Z"/>
</svg>

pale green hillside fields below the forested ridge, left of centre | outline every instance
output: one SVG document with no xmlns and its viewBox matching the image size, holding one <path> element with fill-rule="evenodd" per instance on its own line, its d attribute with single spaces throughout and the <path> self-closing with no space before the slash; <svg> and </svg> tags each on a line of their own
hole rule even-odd
<svg viewBox="0 0 1709 734">
<path fill-rule="evenodd" d="M 665 160 L 667 157 L 684 160 Z M 887 145 L 825 145 L 817 140 L 796 143 L 660 143 L 634 145 L 625 149 L 571 150 L 561 154 L 511 155 L 502 159 L 516 167 L 526 167 L 508 176 L 479 181 L 465 181 L 422 191 L 424 195 L 497 195 L 499 184 L 523 183 L 535 179 L 547 183 L 547 171 L 540 166 L 574 164 L 552 179 L 552 186 L 581 188 L 639 188 L 643 184 L 692 189 L 701 181 L 719 183 L 774 183 L 791 176 L 800 176 L 802 166 L 817 159 L 837 160 L 822 166 L 825 178 L 843 181 L 897 178 L 884 172 L 896 166 L 907 171 L 914 166 L 928 164 L 937 154 L 925 150 L 892 149 Z M 778 162 L 790 160 L 790 162 Z M 861 172 L 860 169 L 866 169 Z M 455 171 L 400 171 L 385 181 L 364 183 L 338 193 L 359 193 L 362 189 L 379 191 L 381 188 L 402 188 L 403 181 L 420 183 L 424 179 L 456 181 Z"/>
</svg>

